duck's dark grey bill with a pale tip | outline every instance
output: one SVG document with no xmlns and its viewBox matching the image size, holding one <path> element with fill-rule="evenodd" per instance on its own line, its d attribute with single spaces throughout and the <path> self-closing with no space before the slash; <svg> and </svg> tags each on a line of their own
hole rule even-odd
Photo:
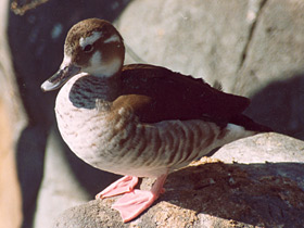
<svg viewBox="0 0 304 228">
<path fill-rule="evenodd" d="M 61 69 L 59 69 L 52 77 L 50 77 L 48 80 L 46 80 L 41 85 L 41 89 L 47 91 L 52 91 L 61 86 L 63 86 L 71 77 L 74 75 L 77 75 L 80 72 L 80 67 L 75 65 L 68 65 Z"/>
</svg>

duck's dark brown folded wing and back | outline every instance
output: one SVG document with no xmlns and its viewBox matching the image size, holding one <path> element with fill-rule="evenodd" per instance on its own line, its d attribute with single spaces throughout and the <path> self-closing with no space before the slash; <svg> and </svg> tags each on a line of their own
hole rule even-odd
<svg viewBox="0 0 304 228">
<path fill-rule="evenodd" d="M 124 66 L 122 79 L 122 93 L 143 123 L 166 119 L 228 122 L 250 103 L 248 98 L 219 91 L 203 79 L 160 66 Z"/>
</svg>

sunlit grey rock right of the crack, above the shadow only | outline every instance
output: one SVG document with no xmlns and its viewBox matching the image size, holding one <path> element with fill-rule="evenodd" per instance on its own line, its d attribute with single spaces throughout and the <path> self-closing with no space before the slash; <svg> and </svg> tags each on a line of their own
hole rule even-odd
<svg viewBox="0 0 304 228">
<path fill-rule="evenodd" d="M 303 75 L 303 11 L 301 0 L 264 1 L 233 92 L 252 97 L 270 83 Z"/>
</svg>

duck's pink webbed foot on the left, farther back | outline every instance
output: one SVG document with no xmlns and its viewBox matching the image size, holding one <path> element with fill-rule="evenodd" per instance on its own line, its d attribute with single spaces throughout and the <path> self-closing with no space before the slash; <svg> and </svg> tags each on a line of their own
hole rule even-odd
<svg viewBox="0 0 304 228">
<path fill-rule="evenodd" d="M 109 187 L 106 187 L 103 191 L 96 195 L 96 199 L 104 199 L 118 194 L 123 194 L 126 192 L 130 192 L 134 190 L 136 185 L 138 183 L 138 177 L 132 176 L 124 176 L 121 179 L 116 180 Z"/>
</svg>

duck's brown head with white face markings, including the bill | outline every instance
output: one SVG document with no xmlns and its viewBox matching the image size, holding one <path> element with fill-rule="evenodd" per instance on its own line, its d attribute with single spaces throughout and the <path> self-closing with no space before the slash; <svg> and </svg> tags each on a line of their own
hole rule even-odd
<svg viewBox="0 0 304 228">
<path fill-rule="evenodd" d="M 79 73 L 111 77 L 122 69 L 124 58 L 123 38 L 111 23 L 99 18 L 81 21 L 66 36 L 60 69 L 41 85 L 41 89 L 58 89 Z"/>
</svg>

